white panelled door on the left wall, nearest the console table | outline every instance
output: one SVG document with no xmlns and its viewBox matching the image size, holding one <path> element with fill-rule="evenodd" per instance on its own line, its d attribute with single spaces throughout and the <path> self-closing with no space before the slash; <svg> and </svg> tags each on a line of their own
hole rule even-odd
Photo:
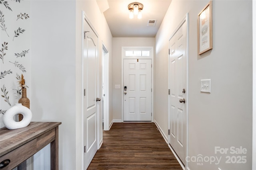
<svg viewBox="0 0 256 170">
<path fill-rule="evenodd" d="M 97 147 L 98 120 L 98 36 L 84 18 L 84 170 L 94 157 Z"/>
</svg>

